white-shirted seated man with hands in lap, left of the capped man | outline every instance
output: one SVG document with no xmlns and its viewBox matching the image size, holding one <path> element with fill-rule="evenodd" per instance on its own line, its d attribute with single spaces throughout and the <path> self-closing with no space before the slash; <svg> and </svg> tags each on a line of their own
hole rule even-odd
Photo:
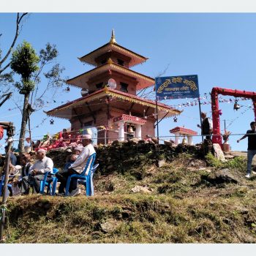
<svg viewBox="0 0 256 256">
<path fill-rule="evenodd" d="M 40 148 L 37 151 L 37 161 L 29 168 L 29 176 L 25 176 L 21 181 L 21 193 L 29 194 L 29 188 L 32 185 L 34 190 L 39 193 L 40 182 L 44 179 L 46 172 L 53 172 L 53 160 L 45 156 L 45 149 Z"/>
</svg>

